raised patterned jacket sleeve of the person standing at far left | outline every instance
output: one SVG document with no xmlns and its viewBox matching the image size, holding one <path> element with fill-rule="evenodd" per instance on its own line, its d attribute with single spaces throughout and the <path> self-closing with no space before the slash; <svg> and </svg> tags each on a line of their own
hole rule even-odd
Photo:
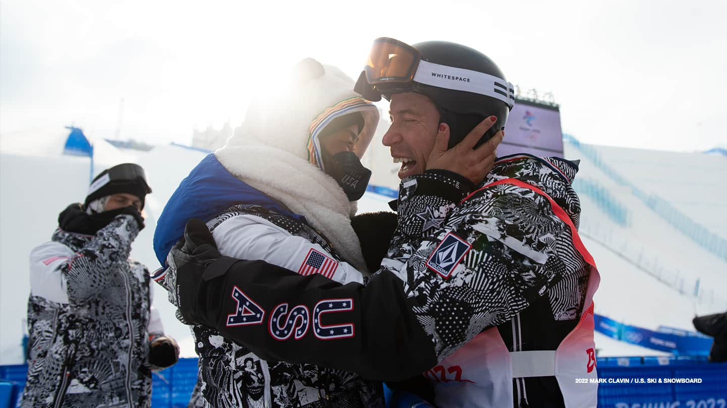
<svg viewBox="0 0 727 408">
<path fill-rule="evenodd" d="M 117 216 L 61 265 L 67 280 L 69 303 L 83 303 L 108 287 L 113 274 L 128 262 L 137 234 L 139 226 L 134 217 Z"/>
</svg>

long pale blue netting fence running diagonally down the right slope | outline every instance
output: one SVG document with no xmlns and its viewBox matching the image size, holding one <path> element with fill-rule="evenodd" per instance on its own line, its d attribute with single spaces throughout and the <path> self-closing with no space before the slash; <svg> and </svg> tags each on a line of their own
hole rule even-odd
<svg viewBox="0 0 727 408">
<path fill-rule="evenodd" d="M 632 184 L 630 181 L 625 179 L 624 176 L 619 174 L 618 171 L 615 171 L 614 168 L 608 166 L 608 164 L 606 164 L 606 162 L 601 158 L 598 151 L 595 150 L 595 147 L 581 143 L 578 139 L 569 134 L 563 134 L 563 141 L 569 142 L 576 147 L 582 155 L 593 162 L 593 164 L 601 170 L 603 174 L 606 174 L 606 176 L 613 179 L 616 184 L 629 187 L 633 195 L 638 197 L 648 208 L 654 211 L 656 215 L 671 224 L 672 227 L 689 237 L 702 248 L 709 250 L 711 253 L 714 253 L 716 256 L 727 261 L 726 239 L 720 237 L 714 232 L 711 232 L 710 229 L 707 229 L 698 222 L 694 221 L 694 219 L 691 219 L 685 213 L 678 211 L 669 202 L 667 202 L 667 200 L 664 200 L 655 194 L 644 192 L 642 189 L 635 186 L 635 184 Z"/>
</svg>

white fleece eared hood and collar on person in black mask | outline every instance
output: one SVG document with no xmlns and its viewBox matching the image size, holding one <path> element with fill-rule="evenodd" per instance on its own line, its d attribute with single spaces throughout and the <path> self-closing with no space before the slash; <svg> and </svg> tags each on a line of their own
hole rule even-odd
<svg viewBox="0 0 727 408">
<path fill-rule="evenodd" d="M 378 109 L 361 99 L 353 91 L 353 79 L 336 67 L 307 59 L 295 70 L 301 75 L 285 91 L 265 94 L 250 104 L 245 121 L 214 155 L 230 174 L 305 216 L 344 261 L 367 274 L 361 242 L 350 223 L 356 202 L 348 201 L 318 163 L 310 163 L 309 142 L 317 142 L 311 136 L 318 134 L 313 128 L 321 115 L 330 119 L 350 113 L 341 102 L 360 99 L 356 111 L 366 122 L 356 147 L 361 157 L 376 131 Z"/>
</svg>

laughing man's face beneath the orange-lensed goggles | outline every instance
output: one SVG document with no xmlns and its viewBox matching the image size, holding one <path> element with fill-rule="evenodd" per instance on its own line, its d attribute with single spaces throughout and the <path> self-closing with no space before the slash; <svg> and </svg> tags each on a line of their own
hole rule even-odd
<svg viewBox="0 0 727 408">
<path fill-rule="evenodd" d="M 390 147 L 394 163 L 401 163 L 399 179 L 424 173 L 439 126 L 434 103 L 414 92 L 393 94 L 389 115 L 391 126 L 382 143 Z"/>
</svg>

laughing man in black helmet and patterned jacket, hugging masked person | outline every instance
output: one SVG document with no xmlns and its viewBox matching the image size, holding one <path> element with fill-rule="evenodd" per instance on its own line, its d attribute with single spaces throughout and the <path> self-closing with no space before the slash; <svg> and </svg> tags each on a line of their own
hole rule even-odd
<svg viewBox="0 0 727 408">
<path fill-rule="evenodd" d="M 383 142 L 402 163 L 398 225 L 379 272 L 337 285 L 262 270 L 220 257 L 193 220 L 169 256 L 185 319 L 289 362 L 381 380 L 423 372 L 442 407 L 595 407 L 597 381 L 576 381 L 596 378 L 600 280 L 577 232 L 577 163 L 512 155 L 467 176 L 485 157 L 473 147 L 497 141 L 514 97 L 494 62 L 460 44 L 379 38 L 356 89 L 390 100 Z M 272 280 L 285 284 L 270 293 Z M 203 304 L 221 299 L 233 311 L 235 289 L 267 324 L 230 326 Z M 310 309 L 313 323 L 276 313 L 281 304 Z M 313 335 L 274 341 L 266 329 L 281 320 Z"/>
</svg>

